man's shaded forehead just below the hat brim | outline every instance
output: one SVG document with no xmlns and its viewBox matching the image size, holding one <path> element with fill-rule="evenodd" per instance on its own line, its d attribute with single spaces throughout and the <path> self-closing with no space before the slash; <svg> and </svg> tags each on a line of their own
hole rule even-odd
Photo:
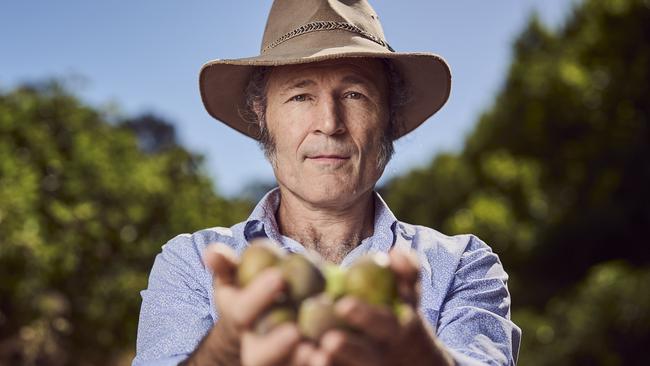
<svg viewBox="0 0 650 366">
<path fill-rule="evenodd" d="M 386 80 L 383 63 L 373 58 L 345 58 L 308 64 L 275 67 L 272 78 L 284 87 L 302 87 L 313 83 L 313 78 L 336 74 L 345 83 L 376 84 Z"/>
</svg>

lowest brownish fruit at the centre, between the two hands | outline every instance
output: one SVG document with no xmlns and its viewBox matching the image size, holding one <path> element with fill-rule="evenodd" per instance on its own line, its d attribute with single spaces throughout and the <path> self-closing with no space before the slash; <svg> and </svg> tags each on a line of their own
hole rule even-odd
<svg viewBox="0 0 650 366">
<path fill-rule="evenodd" d="M 318 341 L 323 333 L 342 325 L 334 312 L 334 301 L 325 293 L 305 299 L 300 305 L 298 329 L 312 341 Z"/>
</svg>

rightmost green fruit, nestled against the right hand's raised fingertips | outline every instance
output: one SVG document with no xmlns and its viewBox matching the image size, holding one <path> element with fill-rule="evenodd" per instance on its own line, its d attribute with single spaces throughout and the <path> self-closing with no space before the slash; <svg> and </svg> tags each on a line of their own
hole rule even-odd
<svg viewBox="0 0 650 366">
<path fill-rule="evenodd" d="M 386 253 L 366 255 L 350 266 L 345 294 L 372 305 L 390 306 L 397 299 L 397 280 Z"/>
</svg>

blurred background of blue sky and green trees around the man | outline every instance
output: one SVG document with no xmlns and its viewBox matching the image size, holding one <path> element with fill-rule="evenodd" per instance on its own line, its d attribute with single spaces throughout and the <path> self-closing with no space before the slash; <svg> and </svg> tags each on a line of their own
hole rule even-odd
<svg viewBox="0 0 650 366">
<path fill-rule="evenodd" d="M 0 364 L 128 364 L 160 246 L 273 185 L 198 96 L 202 63 L 258 53 L 252 3 L 0 5 Z M 650 1 L 374 6 L 454 75 L 380 182 L 397 217 L 499 253 L 520 364 L 644 364 Z"/>
</svg>

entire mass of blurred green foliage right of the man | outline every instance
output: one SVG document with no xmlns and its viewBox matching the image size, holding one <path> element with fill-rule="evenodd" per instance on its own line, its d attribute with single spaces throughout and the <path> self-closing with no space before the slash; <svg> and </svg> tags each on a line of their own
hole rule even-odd
<svg viewBox="0 0 650 366">
<path fill-rule="evenodd" d="M 647 324 L 650 302 L 637 286 L 647 272 L 592 268 L 650 265 L 646 39 L 645 0 L 584 1 L 557 31 L 533 16 L 464 149 L 385 189 L 405 221 L 478 234 L 499 253 L 523 309 L 524 364 L 641 359 L 641 348 L 621 342 L 647 343 L 648 327 L 626 333 L 625 320 Z"/>
</svg>

